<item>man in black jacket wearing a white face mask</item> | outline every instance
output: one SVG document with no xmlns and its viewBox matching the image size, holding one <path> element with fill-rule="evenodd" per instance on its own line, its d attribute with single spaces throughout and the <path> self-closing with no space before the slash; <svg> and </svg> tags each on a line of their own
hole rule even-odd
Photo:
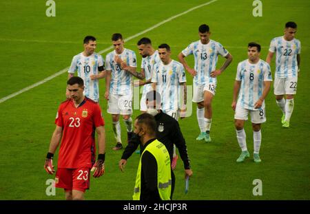
<svg viewBox="0 0 310 214">
<path fill-rule="evenodd" d="M 163 145 L 169 151 L 170 161 L 173 158 L 173 150 L 174 145 L 178 148 L 178 152 L 180 153 L 180 158 L 183 160 L 184 169 L 185 169 L 185 178 L 188 176 L 192 176 L 193 171 L 190 168 L 189 158 L 187 155 L 187 147 L 185 144 L 185 139 L 183 138 L 183 134 L 180 131 L 180 126 L 178 125 L 178 121 L 176 121 L 171 116 L 163 113 L 161 109 L 158 109 L 161 106 L 161 95 L 156 91 L 150 91 L 146 95 L 146 104 L 147 104 L 147 113 L 152 114 L 155 117 L 157 130 L 156 130 L 156 138 L 163 142 Z M 132 138 L 129 140 L 125 151 L 123 152 L 123 156 L 121 160 L 118 162 L 118 166 L 123 171 L 123 167 L 127 163 L 127 159 L 132 156 L 132 153 L 136 151 L 140 145 L 140 140 L 136 134 L 132 134 Z M 140 147 L 141 153 L 143 153 L 143 147 Z M 172 171 L 172 194 L 174 193 L 174 185 L 176 182 L 176 178 Z"/>
</svg>

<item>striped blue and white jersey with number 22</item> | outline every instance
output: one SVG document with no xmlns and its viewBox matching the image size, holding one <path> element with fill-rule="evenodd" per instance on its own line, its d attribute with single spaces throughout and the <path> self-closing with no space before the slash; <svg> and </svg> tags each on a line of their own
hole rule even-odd
<svg viewBox="0 0 310 214">
<path fill-rule="evenodd" d="M 276 74 L 279 78 L 297 77 L 297 54 L 300 54 L 300 41 L 286 41 L 284 36 L 271 40 L 269 52 L 276 52 Z"/>
</svg>

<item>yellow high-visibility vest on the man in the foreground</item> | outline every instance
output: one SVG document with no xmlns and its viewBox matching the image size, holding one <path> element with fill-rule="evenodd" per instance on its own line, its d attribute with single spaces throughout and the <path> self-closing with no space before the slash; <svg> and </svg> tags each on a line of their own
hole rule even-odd
<svg viewBox="0 0 310 214">
<path fill-rule="evenodd" d="M 157 162 L 157 188 L 161 200 L 170 200 L 172 180 L 169 152 L 165 145 L 158 140 L 154 140 L 147 145 L 143 153 L 145 153 L 145 151 L 152 153 Z M 136 172 L 136 184 L 134 186 L 134 195 L 132 195 L 134 200 L 140 200 L 142 156 L 140 158 L 138 171 Z"/>
</svg>

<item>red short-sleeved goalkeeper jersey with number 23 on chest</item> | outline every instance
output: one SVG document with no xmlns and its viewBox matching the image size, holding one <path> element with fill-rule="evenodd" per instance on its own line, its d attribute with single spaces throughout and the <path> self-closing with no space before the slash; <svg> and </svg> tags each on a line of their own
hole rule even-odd
<svg viewBox="0 0 310 214">
<path fill-rule="evenodd" d="M 87 97 L 79 107 L 66 100 L 59 106 L 55 123 L 63 127 L 58 168 L 91 168 L 96 154 L 94 131 L 105 125 L 99 105 Z"/>
</svg>

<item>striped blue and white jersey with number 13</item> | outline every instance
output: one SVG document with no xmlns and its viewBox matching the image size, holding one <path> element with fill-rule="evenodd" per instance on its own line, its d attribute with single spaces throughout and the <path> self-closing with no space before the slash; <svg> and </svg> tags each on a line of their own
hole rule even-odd
<svg viewBox="0 0 310 214">
<path fill-rule="evenodd" d="M 205 83 L 216 83 L 216 78 L 212 78 L 210 73 L 216 69 L 218 55 L 227 56 L 229 52 L 220 43 L 210 39 L 209 43 L 203 44 L 196 41 L 188 45 L 182 51 L 184 56 L 194 54 L 195 67 L 197 75 L 194 76 L 196 85 L 205 85 Z"/>
</svg>

